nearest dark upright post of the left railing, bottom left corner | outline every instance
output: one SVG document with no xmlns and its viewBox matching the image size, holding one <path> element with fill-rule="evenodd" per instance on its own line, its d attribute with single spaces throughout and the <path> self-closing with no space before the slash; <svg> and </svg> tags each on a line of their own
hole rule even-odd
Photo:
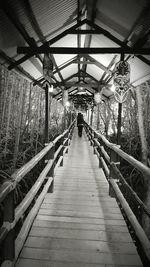
<svg viewBox="0 0 150 267">
<path fill-rule="evenodd" d="M 7 195 L 4 201 L 4 225 L 12 224 L 15 217 L 14 189 Z M 15 259 L 15 230 L 14 228 L 7 234 L 3 247 L 4 261 L 8 266 L 13 266 Z"/>
</svg>

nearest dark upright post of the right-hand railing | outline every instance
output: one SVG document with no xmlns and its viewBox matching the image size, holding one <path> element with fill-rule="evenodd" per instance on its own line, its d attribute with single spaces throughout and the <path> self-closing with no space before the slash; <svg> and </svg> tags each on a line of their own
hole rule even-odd
<svg viewBox="0 0 150 267">
<path fill-rule="evenodd" d="M 115 163 L 115 165 L 118 165 L 118 168 L 119 168 L 120 161 L 118 160 L 118 158 L 119 158 L 119 156 L 116 154 L 116 152 L 111 149 L 110 150 L 110 177 L 109 177 L 109 179 L 114 179 L 117 181 L 118 181 L 118 177 L 116 177 L 111 163 L 112 162 Z M 111 197 L 115 197 L 114 190 L 113 190 L 112 185 L 110 183 L 109 183 L 109 195 Z"/>
</svg>

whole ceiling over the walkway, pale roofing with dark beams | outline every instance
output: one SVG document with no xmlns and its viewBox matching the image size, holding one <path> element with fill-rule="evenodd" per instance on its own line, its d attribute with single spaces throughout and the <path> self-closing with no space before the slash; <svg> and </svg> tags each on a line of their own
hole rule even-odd
<svg viewBox="0 0 150 267">
<path fill-rule="evenodd" d="M 130 64 L 131 86 L 150 79 L 149 0 L 5 0 L 0 7 L 0 63 L 43 86 L 49 53 L 57 99 L 66 89 L 74 101 L 91 101 L 98 90 L 113 97 L 121 54 Z"/>
</svg>

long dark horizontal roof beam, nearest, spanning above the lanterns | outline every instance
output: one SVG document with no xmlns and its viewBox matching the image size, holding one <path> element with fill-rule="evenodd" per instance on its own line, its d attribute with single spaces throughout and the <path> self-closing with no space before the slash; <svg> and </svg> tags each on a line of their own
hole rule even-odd
<svg viewBox="0 0 150 267">
<path fill-rule="evenodd" d="M 150 55 L 150 48 L 130 48 L 130 47 L 18 47 L 18 54 L 130 54 L 130 55 Z"/>
</svg>

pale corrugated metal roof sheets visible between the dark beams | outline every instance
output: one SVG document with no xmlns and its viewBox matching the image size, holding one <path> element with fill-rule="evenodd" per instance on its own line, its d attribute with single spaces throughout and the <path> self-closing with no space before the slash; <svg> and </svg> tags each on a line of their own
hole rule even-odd
<svg viewBox="0 0 150 267">
<path fill-rule="evenodd" d="M 77 23 L 77 0 L 5 0 L 8 9 L 11 8 L 13 11 L 13 16 L 18 19 L 22 27 L 26 30 L 29 37 L 33 37 L 37 45 L 41 45 L 41 40 L 39 40 L 38 33 L 34 27 L 32 19 L 36 20 L 37 27 L 45 36 L 46 40 L 53 38 L 65 31 L 68 27 L 75 25 Z M 97 26 L 101 26 L 104 30 L 107 30 L 114 37 L 118 38 L 120 41 L 129 39 L 129 44 L 132 46 L 139 37 L 145 35 L 149 30 L 150 16 L 146 13 L 145 17 L 143 14 L 143 9 L 146 4 L 149 3 L 148 0 L 82 0 L 79 1 L 80 8 L 84 6 L 84 10 L 87 10 L 88 18 L 91 16 L 91 23 L 95 23 Z M 25 4 L 30 4 L 31 9 L 26 10 Z M 29 13 L 33 11 L 30 17 Z M 93 17 L 93 12 L 95 12 L 95 17 Z M 93 19 L 92 19 L 93 17 Z M 90 29 L 87 24 L 83 25 L 81 29 Z M 14 58 L 16 55 L 17 46 L 25 45 L 26 42 L 15 26 L 7 18 L 6 14 L 0 9 L 0 34 L 2 38 L 0 39 L 0 49 L 6 53 L 6 55 Z M 91 47 L 117 47 L 112 40 L 103 34 L 92 35 L 91 41 L 89 35 L 81 35 L 81 46 L 85 46 L 85 40 L 89 41 Z M 128 38 L 127 38 L 128 37 Z M 149 47 L 150 43 L 147 41 L 145 46 Z M 77 47 L 77 35 L 68 34 L 64 38 L 61 38 L 58 42 L 54 43 L 52 46 L 57 47 Z M 54 55 L 57 66 L 64 64 L 75 55 Z M 114 54 L 96 54 L 91 55 L 93 59 L 108 67 L 113 60 Z M 17 59 L 20 58 L 17 55 Z M 15 59 L 16 59 L 15 58 Z M 85 55 L 86 58 L 86 55 Z M 145 58 L 149 59 L 148 56 Z M 119 61 L 120 55 L 118 55 L 117 60 Z M 35 77 L 41 77 L 42 66 L 39 66 L 39 62 L 36 64 L 36 58 L 33 60 L 28 60 L 21 64 L 26 71 Z M 82 56 L 82 61 L 84 56 Z M 41 63 L 40 63 L 41 64 Z M 37 65 L 37 66 L 36 66 Z M 83 70 L 85 65 L 80 64 L 80 70 Z M 41 71 L 39 71 L 41 69 Z M 148 75 L 150 73 L 150 68 L 145 65 L 141 60 L 137 59 L 132 62 L 132 81 L 141 78 L 141 75 Z M 69 77 L 78 70 L 77 64 L 72 64 L 60 72 L 64 78 Z M 111 67 L 111 70 L 113 68 Z M 134 70 L 136 73 L 134 73 Z M 85 71 L 97 80 L 100 80 L 104 71 L 95 65 L 87 65 Z M 57 81 L 61 81 L 60 75 L 55 74 Z M 93 78 L 93 79 L 94 79 Z M 78 78 L 74 77 L 71 80 L 78 81 Z M 91 78 L 85 78 L 86 81 L 91 80 Z"/>
</svg>

